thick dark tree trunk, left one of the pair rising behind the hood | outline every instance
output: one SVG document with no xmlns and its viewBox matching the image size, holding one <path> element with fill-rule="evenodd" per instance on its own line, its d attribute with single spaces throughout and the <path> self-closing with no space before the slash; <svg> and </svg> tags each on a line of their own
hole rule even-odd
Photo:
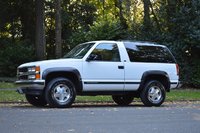
<svg viewBox="0 0 200 133">
<path fill-rule="evenodd" d="M 36 6 L 36 56 L 38 60 L 46 59 L 46 39 L 44 25 L 44 0 L 35 0 Z"/>
</svg>

